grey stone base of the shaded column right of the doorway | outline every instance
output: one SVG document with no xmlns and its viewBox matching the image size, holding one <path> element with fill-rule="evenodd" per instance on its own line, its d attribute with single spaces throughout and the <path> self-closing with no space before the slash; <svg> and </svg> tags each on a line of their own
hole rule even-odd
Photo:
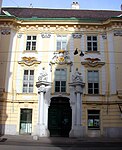
<svg viewBox="0 0 122 150">
<path fill-rule="evenodd" d="M 85 129 L 81 125 L 74 126 L 69 133 L 69 137 L 84 137 Z"/>
</svg>

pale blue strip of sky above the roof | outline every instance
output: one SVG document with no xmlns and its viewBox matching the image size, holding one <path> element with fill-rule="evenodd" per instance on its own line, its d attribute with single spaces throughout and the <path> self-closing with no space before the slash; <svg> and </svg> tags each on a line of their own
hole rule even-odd
<svg viewBox="0 0 122 150">
<path fill-rule="evenodd" d="M 80 4 L 80 9 L 121 10 L 122 0 L 3 0 L 2 6 L 38 8 L 71 8 L 73 1 Z"/>
</svg>

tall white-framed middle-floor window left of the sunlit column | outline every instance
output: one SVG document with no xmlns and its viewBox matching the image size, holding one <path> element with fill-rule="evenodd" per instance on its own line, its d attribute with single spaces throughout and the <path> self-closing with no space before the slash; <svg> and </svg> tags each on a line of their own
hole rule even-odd
<svg viewBox="0 0 122 150">
<path fill-rule="evenodd" d="M 23 93 L 33 93 L 34 70 L 24 70 Z"/>
</svg>

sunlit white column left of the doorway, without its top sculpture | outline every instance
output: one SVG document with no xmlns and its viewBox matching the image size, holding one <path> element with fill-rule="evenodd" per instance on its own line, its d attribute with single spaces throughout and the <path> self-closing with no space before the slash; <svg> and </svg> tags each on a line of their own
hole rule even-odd
<svg viewBox="0 0 122 150">
<path fill-rule="evenodd" d="M 45 106 L 45 94 L 47 86 L 49 86 L 51 83 L 47 81 L 38 81 L 36 83 L 36 86 L 38 88 L 38 121 L 35 128 L 35 132 L 33 134 L 34 139 L 38 139 L 38 137 L 48 137 L 49 131 L 47 129 L 47 123 L 44 121 L 44 117 L 47 118 L 46 115 L 48 115 L 47 112 L 48 107 Z"/>
</svg>

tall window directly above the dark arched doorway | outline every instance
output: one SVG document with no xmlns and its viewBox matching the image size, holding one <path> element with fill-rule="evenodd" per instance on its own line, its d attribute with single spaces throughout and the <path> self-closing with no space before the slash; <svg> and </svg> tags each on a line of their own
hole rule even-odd
<svg viewBox="0 0 122 150">
<path fill-rule="evenodd" d="M 55 92 L 66 92 L 66 69 L 55 71 Z"/>
</svg>

